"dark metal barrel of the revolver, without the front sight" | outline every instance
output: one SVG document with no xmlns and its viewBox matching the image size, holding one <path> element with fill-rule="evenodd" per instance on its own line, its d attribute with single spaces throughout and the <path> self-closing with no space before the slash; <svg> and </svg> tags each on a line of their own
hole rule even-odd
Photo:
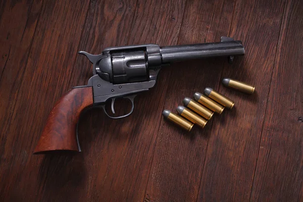
<svg viewBox="0 0 303 202">
<path fill-rule="evenodd" d="M 223 41 L 191 45 L 173 45 L 160 48 L 162 63 L 220 56 L 242 56 L 244 47 L 241 41 Z"/>
</svg>

